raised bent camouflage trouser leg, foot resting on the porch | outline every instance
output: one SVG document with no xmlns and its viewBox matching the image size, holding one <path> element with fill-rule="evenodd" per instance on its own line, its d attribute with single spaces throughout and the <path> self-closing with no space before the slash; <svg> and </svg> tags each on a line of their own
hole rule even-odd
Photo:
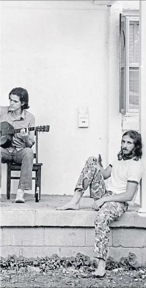
<svg viewBox="0 0 146 288">
<path fill-rule="evenodd" d="M 90 192 L 94 200 L 104 197 L 106 185 L 97 161 L 93 164 L 85 164 L 75 186 L 75 191 L 83 196 L 85 190 L 90 186 Z"/>
</svg>

